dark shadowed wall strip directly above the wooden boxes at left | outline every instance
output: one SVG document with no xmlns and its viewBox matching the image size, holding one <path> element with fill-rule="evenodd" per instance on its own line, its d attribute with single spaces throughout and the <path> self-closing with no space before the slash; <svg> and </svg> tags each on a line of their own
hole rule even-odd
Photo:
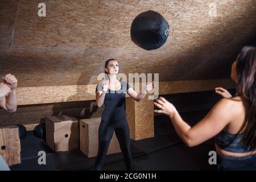
<svg viewBox="0 0 256 182">
<path fill-rule="evenodd" d="M 77 119 L 101 117 L 104 106 L 96 107 L 94 101 L 65 102 L 56 104 L 18 106 L 15 113 L 0 109 L 0 126 L 25 125 L 27 130 L 34 130 L 39 123 L 51 115 L 71 115 Z"/>
</svg>

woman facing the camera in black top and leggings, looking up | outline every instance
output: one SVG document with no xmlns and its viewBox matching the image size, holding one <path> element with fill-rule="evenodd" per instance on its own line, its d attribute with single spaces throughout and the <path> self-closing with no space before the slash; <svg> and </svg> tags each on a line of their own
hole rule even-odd
<svg viewBox="0 0 256 182">
<path fill-rule="evenodd" d="M 107 80 L 96 88 L 98 107 L 105 105 L 98 130 L 98 154 L 95 169 L 101 170 L 108 152 L 110 140 L 115 135 L 120 144 L 127 170 L 131 170 L 130 131 L 125 113 L 125 95 L 129 94 L 135 101 L 141 101 L 148 91 L 154 89 L 154 82 L 147 84 L 141 94 L 136 93 L 127 82 L 117 80 L 119 71 L 117 60 L 109 59 L 105 63 Z"/>
</svg>

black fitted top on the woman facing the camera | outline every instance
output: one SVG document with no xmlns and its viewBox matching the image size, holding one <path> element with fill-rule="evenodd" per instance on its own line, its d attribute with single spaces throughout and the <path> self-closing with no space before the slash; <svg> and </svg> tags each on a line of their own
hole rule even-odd
<svg viewBox="0 0 256 182">
<path fill-rule="evenodd" d="M 101 119 L 103 121 L 118 122 L 126 118 L 125 94 L 131 88 L 127 82 L 120 81 L 121 89 L 106 91 L 104 105 L 105 109 Z M 97 85 L 96 91 L 102 91 L 102 82 Z"/>
</svg>

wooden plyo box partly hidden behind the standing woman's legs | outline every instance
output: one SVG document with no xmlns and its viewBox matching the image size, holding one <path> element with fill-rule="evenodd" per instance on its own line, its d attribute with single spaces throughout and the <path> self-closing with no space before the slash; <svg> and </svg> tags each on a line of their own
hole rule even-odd
<svg viewBox="0 0 256 182">
<path fill-rule="evenodd" d="M 98 153 L 98 129 L 100 127 L 101 118 L 90 118 L 80 120 L 80 150 L 92 158 Z M 109 144 L 107 154 L 115 154 L 121 152 L 119 142 L 115 133 Z"/>
</svg>

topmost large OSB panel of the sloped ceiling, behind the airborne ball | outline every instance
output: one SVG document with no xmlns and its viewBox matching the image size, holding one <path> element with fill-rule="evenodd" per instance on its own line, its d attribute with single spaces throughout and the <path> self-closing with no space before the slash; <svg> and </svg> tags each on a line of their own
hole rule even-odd
<svg viewBox="0 0 256 182">
<path fill-rule="evenodd" d="M 139 13 L 155 10 L 171 26 L 165 45 L 196 48 L 255 23 L 255 1 L 214 1 L 217 17 L 209 16 L 212 1 L 44 1 L 46 18 L 39 18 L 39 0 L 21 2 L 14 46 L 138 49 L 130 40 L 130 24 Z M 246 19 L 246 22 L 243 20 Z M 236 22 L 236 23 L 234 23 Z M 218 28 L 217 28 L 218 27 Z M 236 27 L 236 28 L 234 28 Z M 238 30 L 239 29 L 239 30 Z M 211 32 L 211 36 L 207 32 Z M 195 39 L 200 36 L 200 41 Z M 43 41 L 42 41 L 43 40 Z M 172 40 L 172 41 L 171 41 Z"/>
</svg>

